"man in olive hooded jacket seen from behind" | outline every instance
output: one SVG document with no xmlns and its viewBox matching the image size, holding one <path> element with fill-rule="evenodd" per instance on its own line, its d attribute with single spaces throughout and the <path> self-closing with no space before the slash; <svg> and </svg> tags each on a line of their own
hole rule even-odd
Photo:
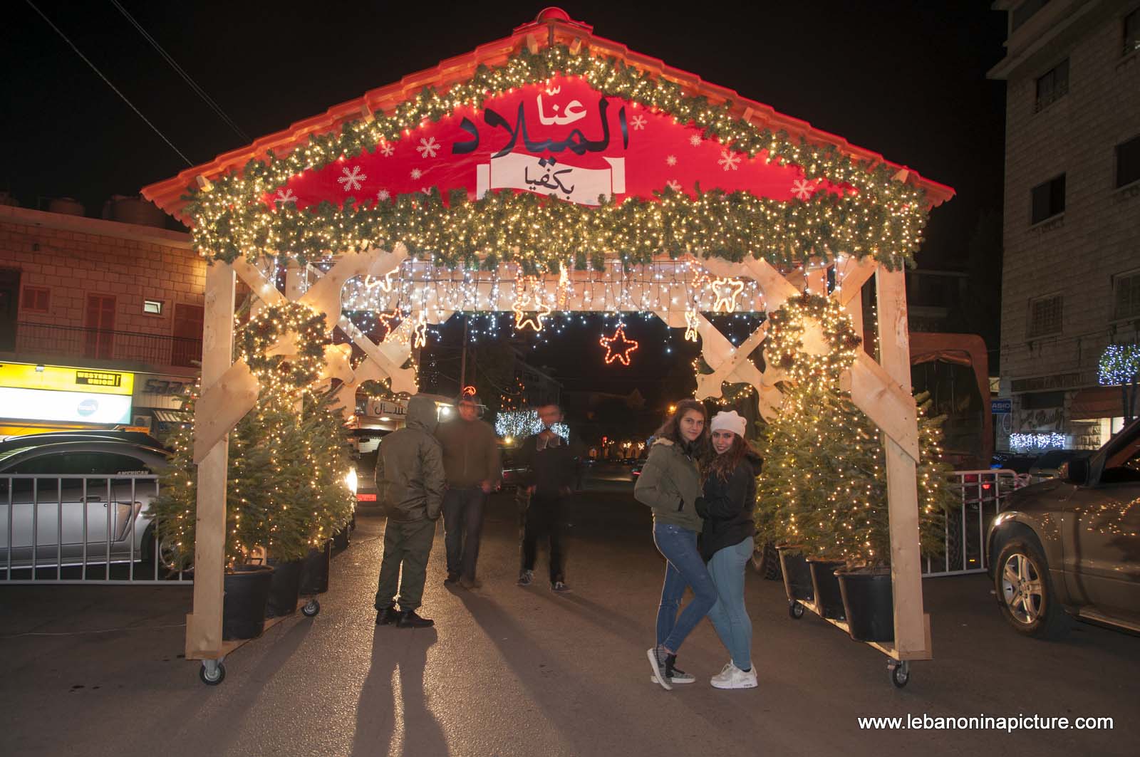
<svg viewBox="0 0 1140 757">
<path fill-rule="evenodd" d="M 388 434 L 376 455 L 377 498 L 388 514 L 376 589 L 377 626 L 396 622 L 400 628 L 422 628 L 435 622 L 416 614 L 443 503 L 443 459 L 434 429 L 435 402 L 417 394 L 408 400 L 405 428 Z M 399 611 L 393 604 L 397 589 Z"/>
</svg>

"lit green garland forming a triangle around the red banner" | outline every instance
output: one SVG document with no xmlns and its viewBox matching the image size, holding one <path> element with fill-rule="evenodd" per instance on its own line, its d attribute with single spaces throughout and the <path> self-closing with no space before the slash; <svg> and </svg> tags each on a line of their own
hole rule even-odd
<svg viewBox="0 0 1140 757">
<path fill-rule="evenodd" d="M 816 193 L 807 201 L 779 202 L 747 192 L 698 192 L 690 198 L 667 189 L 659 194 L 660 202 L 629 197 L 596 209 L 513 192 L 469 201 L 464 190 L 451 193 L 449 205 L 438 193 L 401 195 L 369 207 L 357 206 L 352 198 L 343 206 L 325 202 L 303 211 L 274 211 L 263 203 L 267 193 L 293 176 L 399 141 L 406 130 L 438 122 L 462 105 L 479 108 L 489 97 L 554 75 L 581 76 L 606 96 L 693 124 L 705 138 L 736 153 L 752 157 L 767 150 L 769 160 L 801 166 L 808 179 L 848 185 L 857 194 Z M 287 156 L 270 150 L 241 173 L 219 177 L 207 190 L 190 188 L 185 198 L 194 219 L 194 244 L 226 261 L 272 250 L 303 264 L 329 252 L 390 249 L 402 242 L 414 255 L 433 258 L 437 264 L 492 267 L 513 260 L 528 271 L 557 270 L 563 261 L 601 267 L 612 257 L 642 263 L 661 252 L 732 261 L 754 255 L 775 266 L 839 252 L 871 255 L 891 268 L 912 260 L 928 214 L 920 187 L 893 179 L 885 163 L 853 160 L 833 145 L 793 143 L 785 132 L 759 129 L 731 111 L 731 103 L 712 105 L 702 96 L 686 95 L 679 84 L 618 58 L 576 56 L 562 44 L 537 54 L 523 48 L 503 66 L 480 65 L 471 80 L 446 93 L 425 88 L 388 115 L 377 112 L 373 119 L 344 123 L 339 133 L 310 135 L 308 144 Z"/>
</svg>

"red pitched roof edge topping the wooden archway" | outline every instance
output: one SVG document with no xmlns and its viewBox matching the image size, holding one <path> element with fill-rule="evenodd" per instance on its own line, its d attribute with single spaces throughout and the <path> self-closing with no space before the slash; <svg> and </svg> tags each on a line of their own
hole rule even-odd
<svg viewBox="0 0 1140 757">
<path fill-rule="evenodd" d="M 446 91 L 451 84 L 471 79 L 480 65 L 499 66 L 505 64 L 511 55 L 524 46 L 535 51 L 559 43 L 567 44 L 572 50 L 581 49 L 584 52 L 589 50 L 595 55 L 616 57 L 627 65 L 674 81 L 693 95 L 703 95 L 714 104 L 731 100 L 735 115 L 760 129 L 783 130 L 793 138 L 803 137 L 813 144 L 834 145 L 857 160 L 872 163 L 883 162 L 895 169 L 905 170 L 904 177 L 926 190 L 927 200 L 931 205 L 940 205 L 954 196 L 954 190 L 951 187 L 923 179 L 912 169 L 886 161 L 882 155 L 852 145 L 842 137 L 815 129 L 806 121 L 777 113 L 771 106 L 741 97 L 731 89 L 706 82 L 697 74 L 667 66 L 658 58 L 634 52 L 625 44 L 596 36 L 593 33 L 593 26 L 572 21 L 565 11 L 559 8 L 542 10 L 534 22 L 518 26 L 510 36 L 481 44 L 465 55 L 448 58 L 434 68 L 408 74 L 399 82 L 369 90 L 361 97 L 334 105 L 319 115 L 298 121 L 287 129 L 261 137 L 251 145 L 222 153 L 209 163 L 186 169 L 170 179 L 146 186 L 142 188 L 142 196 L 171 215 L 189 223 L 190 219 L 182 212 L 186 203 L 181 197 L 188 187 L 196 184 L 197 177 L 210 179 L 228 171 L 241 170 L 246 162 L 263 156 L 269 149 L 278 155 L 287 154 L 294 147 L 304 144 L 310 135 L 339 131 L 341 124 L 356 121 L 365 113 L 391 112 L 399 103 L 414 98 L 425 87 Z"/>
</svg>

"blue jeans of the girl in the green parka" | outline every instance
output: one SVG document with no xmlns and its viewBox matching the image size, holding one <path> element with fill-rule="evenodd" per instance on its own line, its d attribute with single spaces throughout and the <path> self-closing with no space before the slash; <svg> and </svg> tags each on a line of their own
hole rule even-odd
<svg viewBox="0 0 1140 757">
<path fill-rule="evenodd" d="M 657 643 L 676 654 L 685 637 L 716 604 L 716 584 L 697 550 L 697 531 L 658 523 L 653 527 L 653 543 L 667 561 L 661 604 L 657 609 Z M 693 600 L 678 618 L 677 610 L 686 586 L 692 587 Z"/>
</svg>

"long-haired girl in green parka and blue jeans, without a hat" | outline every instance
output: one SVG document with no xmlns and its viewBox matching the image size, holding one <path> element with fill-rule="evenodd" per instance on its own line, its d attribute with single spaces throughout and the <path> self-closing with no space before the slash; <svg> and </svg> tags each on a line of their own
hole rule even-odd
<svg viewBox="0 0 1140 757">
<path fill-rule="evenodd" d="M 695 681 L 677 668 L 677 650 L 717 601 L 716 584 L 697 548 L 702 526 L 697 512 L 701 495 L 698 461 L 709 443 L 707 422 L 703 405 L 691 399 L 678 402 L 676 413 L 658 430 L 634 487 L 634 497 L 653 510 L 653 543 L 666 560 L 657 644 L 646 651 L 653 681 L 666 690 Z M 693 601 L 678 618 L 686 586 L 693 589 Z"/>
</svg>

